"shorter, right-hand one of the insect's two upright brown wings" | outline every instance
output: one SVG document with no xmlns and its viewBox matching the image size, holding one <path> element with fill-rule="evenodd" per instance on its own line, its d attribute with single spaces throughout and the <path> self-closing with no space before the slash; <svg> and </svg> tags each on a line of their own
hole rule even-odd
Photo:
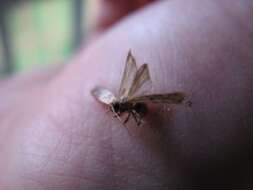
<svg viewBox="0 0 253 190">
<path fill-rule="evenodd" d="M 152 81 L 147 64 L 143 64 L 136 72 L 132 86 L 129 90 L 128 99 L 142 95 L 152 87 Z"/>
</svg>

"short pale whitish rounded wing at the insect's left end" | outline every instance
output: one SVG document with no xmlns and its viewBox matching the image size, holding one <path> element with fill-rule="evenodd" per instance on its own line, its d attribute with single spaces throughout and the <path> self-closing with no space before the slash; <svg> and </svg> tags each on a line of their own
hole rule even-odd
<svg viewBox="0 0 253 190">
<path fill-rule="evenodd" d="M 91 94 L 100 102 L 104 104 L 111 104 L 116 101 L 116 97 L 112 92 L 103 87 L 95 87 Z"/>
</svg>

